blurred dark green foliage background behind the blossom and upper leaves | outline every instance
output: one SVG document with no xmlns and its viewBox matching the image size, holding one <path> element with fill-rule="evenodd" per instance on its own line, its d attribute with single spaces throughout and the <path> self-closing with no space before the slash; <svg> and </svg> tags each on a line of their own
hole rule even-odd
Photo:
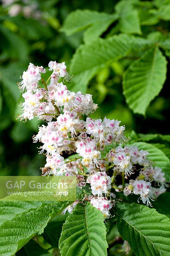
<svg viewBox="0 0 170 256">
<path fill-rule="evenodd" d="M 31 137 L 38 130 L 41 122 L 37 120 L 21 123 L 16 120 L 20 108 L 21 93 L 17 81 L 29 62 L 35 65 L 48 66 L 50 60 L 70 60 L 83 43 L 83 31 L 72 36 L 60 32 L 63 21 L 71 11 L 90 9 L 99 12 L 113 13 L 118 1 L 57 1 L 36 0 L 29 1 L 37 4 L 41 16 L 35 19 L 33 15 L 25 18 L 23 13 L 15 17 L 8 14 L 8 7 L 0 7 L 0 168 L 1 175 L 40 175 L 39 167 L 45 164 L 45 157 L 38 154 L 38 144 L 33 144 Z M 143 1 L 145 2 L 145 1 Z M 18 1 L 21 3 L 22 1 Z M 151 32 L 168 33 L 169 22 L 161 20 L 151 26 L 142 26 L 142 35 L 146 37 Z M 113 34 L 117 26 L 114 22 L 101 37 Z M 116 31 L 114 32 L 116 33 Z M 99 104 L 97 114 L 103 118 L 117 118 L 125 124 L 130 132 L 168 134 L 169 127 L 166 120 L 169 116 L 169 75 L 157 96 L 147 108 L 146 116 L 133 114 L 125 102 L 122 94 L 122 73 L 132 60 L 114 62 L 108 68 L 101 70 L 89 83 L 88 93 L 93 94 L 95 103 Z M 169 70 L 169 59 L 168 70 Z M 83 65 L 83 63 L 82 63 Z M 45 75 L 49 76 L 49 73 Z"/>
</svg>

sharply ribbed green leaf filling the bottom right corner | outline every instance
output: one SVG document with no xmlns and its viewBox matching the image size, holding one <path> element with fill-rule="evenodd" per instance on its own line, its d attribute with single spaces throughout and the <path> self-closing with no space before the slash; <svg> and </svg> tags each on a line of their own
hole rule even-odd
<svg viewBox="0 0 170 256">
<path fill-rule="evenodd" d="M 170 220 L 145 205 L 117 204 L 117 228 L 137 256 L 168 256 Z"/>
</svg>

